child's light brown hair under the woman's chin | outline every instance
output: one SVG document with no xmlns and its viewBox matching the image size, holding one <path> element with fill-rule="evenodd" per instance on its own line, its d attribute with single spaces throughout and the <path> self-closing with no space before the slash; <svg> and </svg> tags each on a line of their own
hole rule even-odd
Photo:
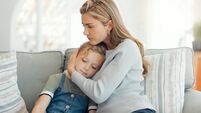
<svg viewBox="0 0 201 113">
<path fill-rule="evenodd" d="M 88 54 L 89 50 L 91 50 L 91 51 L 96 52 L 102 56 L 105 56 L 106 49 L 107 48 L 106 48 L 104 43 L 92 45 L 89 42 L 85 42 L 80 46 L 77 55 Z"/>
</svg>

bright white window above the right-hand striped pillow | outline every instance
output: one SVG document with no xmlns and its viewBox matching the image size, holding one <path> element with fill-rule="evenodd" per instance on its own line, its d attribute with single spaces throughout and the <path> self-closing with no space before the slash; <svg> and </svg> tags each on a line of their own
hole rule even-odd
<svg viewBox="0 0 201 113">
<path fill-rule="evenodd" d="M 154 0 L 148 8 L 147 48 L 192 47 L 192 0 Z"/>
</svg>

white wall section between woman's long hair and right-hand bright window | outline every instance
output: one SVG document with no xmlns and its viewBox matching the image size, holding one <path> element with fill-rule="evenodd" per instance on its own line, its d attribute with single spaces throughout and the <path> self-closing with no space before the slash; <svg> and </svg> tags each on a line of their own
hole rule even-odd
<svg viewBox="0 0 201 113">
<path fill-rule="evenodd" d="M 116 3 L 130 33 L 147 43 L 147 0 L 116 0 Z"/>
</svg>

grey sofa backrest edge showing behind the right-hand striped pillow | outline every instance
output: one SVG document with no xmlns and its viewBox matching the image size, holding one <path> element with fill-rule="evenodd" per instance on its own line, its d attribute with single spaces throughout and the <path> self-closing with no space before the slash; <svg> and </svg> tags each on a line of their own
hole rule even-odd
<svg viewBox="0 0 201 113">
<path fill-rule="evenodd" d="M 186 70 L 185 70 L 185 89 L 193 87 L 194 84 L 194 52 L 189 47 L 179 47 L 179 48 L 169 48 L 169 49 L 147 49 L 145 50 L 146 55 L 155 55 L 161 54 L 174 49 L 185 49 L 185 58 L 186 58 Z"/>
</svg>

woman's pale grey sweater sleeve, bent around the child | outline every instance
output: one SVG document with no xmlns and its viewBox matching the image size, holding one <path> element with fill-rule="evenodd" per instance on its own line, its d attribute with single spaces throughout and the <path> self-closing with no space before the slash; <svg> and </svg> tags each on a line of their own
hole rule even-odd
<svg viewBox="0 0 201 113">
<path fill-rule="evenodd" d="M 132 66 L 137 66 L 134 65 L 135 62 L 142 63 L 139 49 L 133 42 L 118 46 L 112 58 L 108 59 L 106 59 L 104 67 L 95 75 L 99 76 L 96 80 L 87 79 L 76 71 L 72 73 L 72 81 L 98 104 L 110 97 Z M 142 64 L 139 66 L 142 69 Z"/>
</svg>

